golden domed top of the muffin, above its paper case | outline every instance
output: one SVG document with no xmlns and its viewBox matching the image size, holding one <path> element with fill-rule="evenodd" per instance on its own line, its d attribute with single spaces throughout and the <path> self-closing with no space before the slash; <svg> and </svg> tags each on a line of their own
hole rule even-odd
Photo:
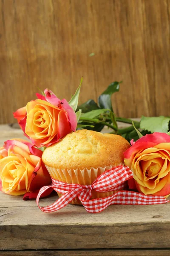
<svg viewBox="0 0 170 256">
<path fill-rule="evenodd" d="M 130 144 L 123 137 L 96 131 L 78 130 L 46 148 L 42 161 L 57 169 L 90 169 L 124 162 Z"/>
</svg>

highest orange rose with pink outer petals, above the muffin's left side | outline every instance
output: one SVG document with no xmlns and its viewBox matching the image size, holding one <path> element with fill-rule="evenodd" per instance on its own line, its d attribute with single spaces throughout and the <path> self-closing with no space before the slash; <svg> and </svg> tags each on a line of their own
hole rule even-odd
<svg viewBox="0 0 170 256">
<path fill-rule="evenodd" d="M 76 114 L 68 102 L 59 100 L 51 90 L 44 92 L 45 96 L 37 93 L 38 99 L 27 103 L 26 116 L 19 122 L 26 137 L 37 147 L 48 147 L 77 127 Z"/>
</svg>

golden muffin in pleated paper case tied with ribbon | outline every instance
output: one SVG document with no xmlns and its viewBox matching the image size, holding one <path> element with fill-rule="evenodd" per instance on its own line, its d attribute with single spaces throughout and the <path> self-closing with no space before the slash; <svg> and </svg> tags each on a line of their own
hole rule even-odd
<svg viewBox="0 0 170 256">
<path fill-rule="evenodd" d="M 119 135 L 78 130 L 46 148 L 42 161 L 55 180 L 91 185 L 105 170 L 123 164 L 123 152 L 129 147 L 127 140 Z M 113 192 L 92 191 L 92 198 L 109 195 Z M 72 204 L 81 202 L 76 198 Z"/>
</svg>

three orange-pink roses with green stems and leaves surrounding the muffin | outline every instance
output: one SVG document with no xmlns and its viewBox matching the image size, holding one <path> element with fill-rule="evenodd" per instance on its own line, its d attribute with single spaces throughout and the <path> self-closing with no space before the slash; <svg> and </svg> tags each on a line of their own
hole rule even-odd
<svg viewBox="0 0 170 256">
<path fill-rule="evenodd" d="M 0 148 L 0 189 L 9 195 L 36 198 L 43 186 L 51 185 L 51 177 L 42 162 L 42 151 L 77 129 L 118 134 L 131 143 L 125 152 L 125 166 L 133 177 L 129 189 L 143 195 L 167 197 L 170 194 L 170 117 L 144 117 L 140 122 L 116 117 L 111 95 L 119 91 L 119 82 L 111 83 L 99 96 L 78 106 L 80 85 L 67 102 L 48 89 L 36 93 L 37 99 L 14 112 L 14 117 L 27 140 L 11 139 Z M 119 129 L 117 122 L 130 126 Z M 28 139 L 31 141 L 29 142 Z M 45 190 L 41 197 L 53 189 Z"/>
</svg>

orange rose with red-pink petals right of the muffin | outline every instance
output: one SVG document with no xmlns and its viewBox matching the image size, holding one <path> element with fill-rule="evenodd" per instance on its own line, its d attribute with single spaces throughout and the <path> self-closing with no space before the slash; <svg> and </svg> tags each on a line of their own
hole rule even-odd
<svg viewBox="0 0 170 256">
<path fill-rule="evenodd" d="M 133 172 L 129 188 L 144 195 L 170 194 L 170 136 L 155 132 L 137 140 L 124 153 Z"/>
</svg>

